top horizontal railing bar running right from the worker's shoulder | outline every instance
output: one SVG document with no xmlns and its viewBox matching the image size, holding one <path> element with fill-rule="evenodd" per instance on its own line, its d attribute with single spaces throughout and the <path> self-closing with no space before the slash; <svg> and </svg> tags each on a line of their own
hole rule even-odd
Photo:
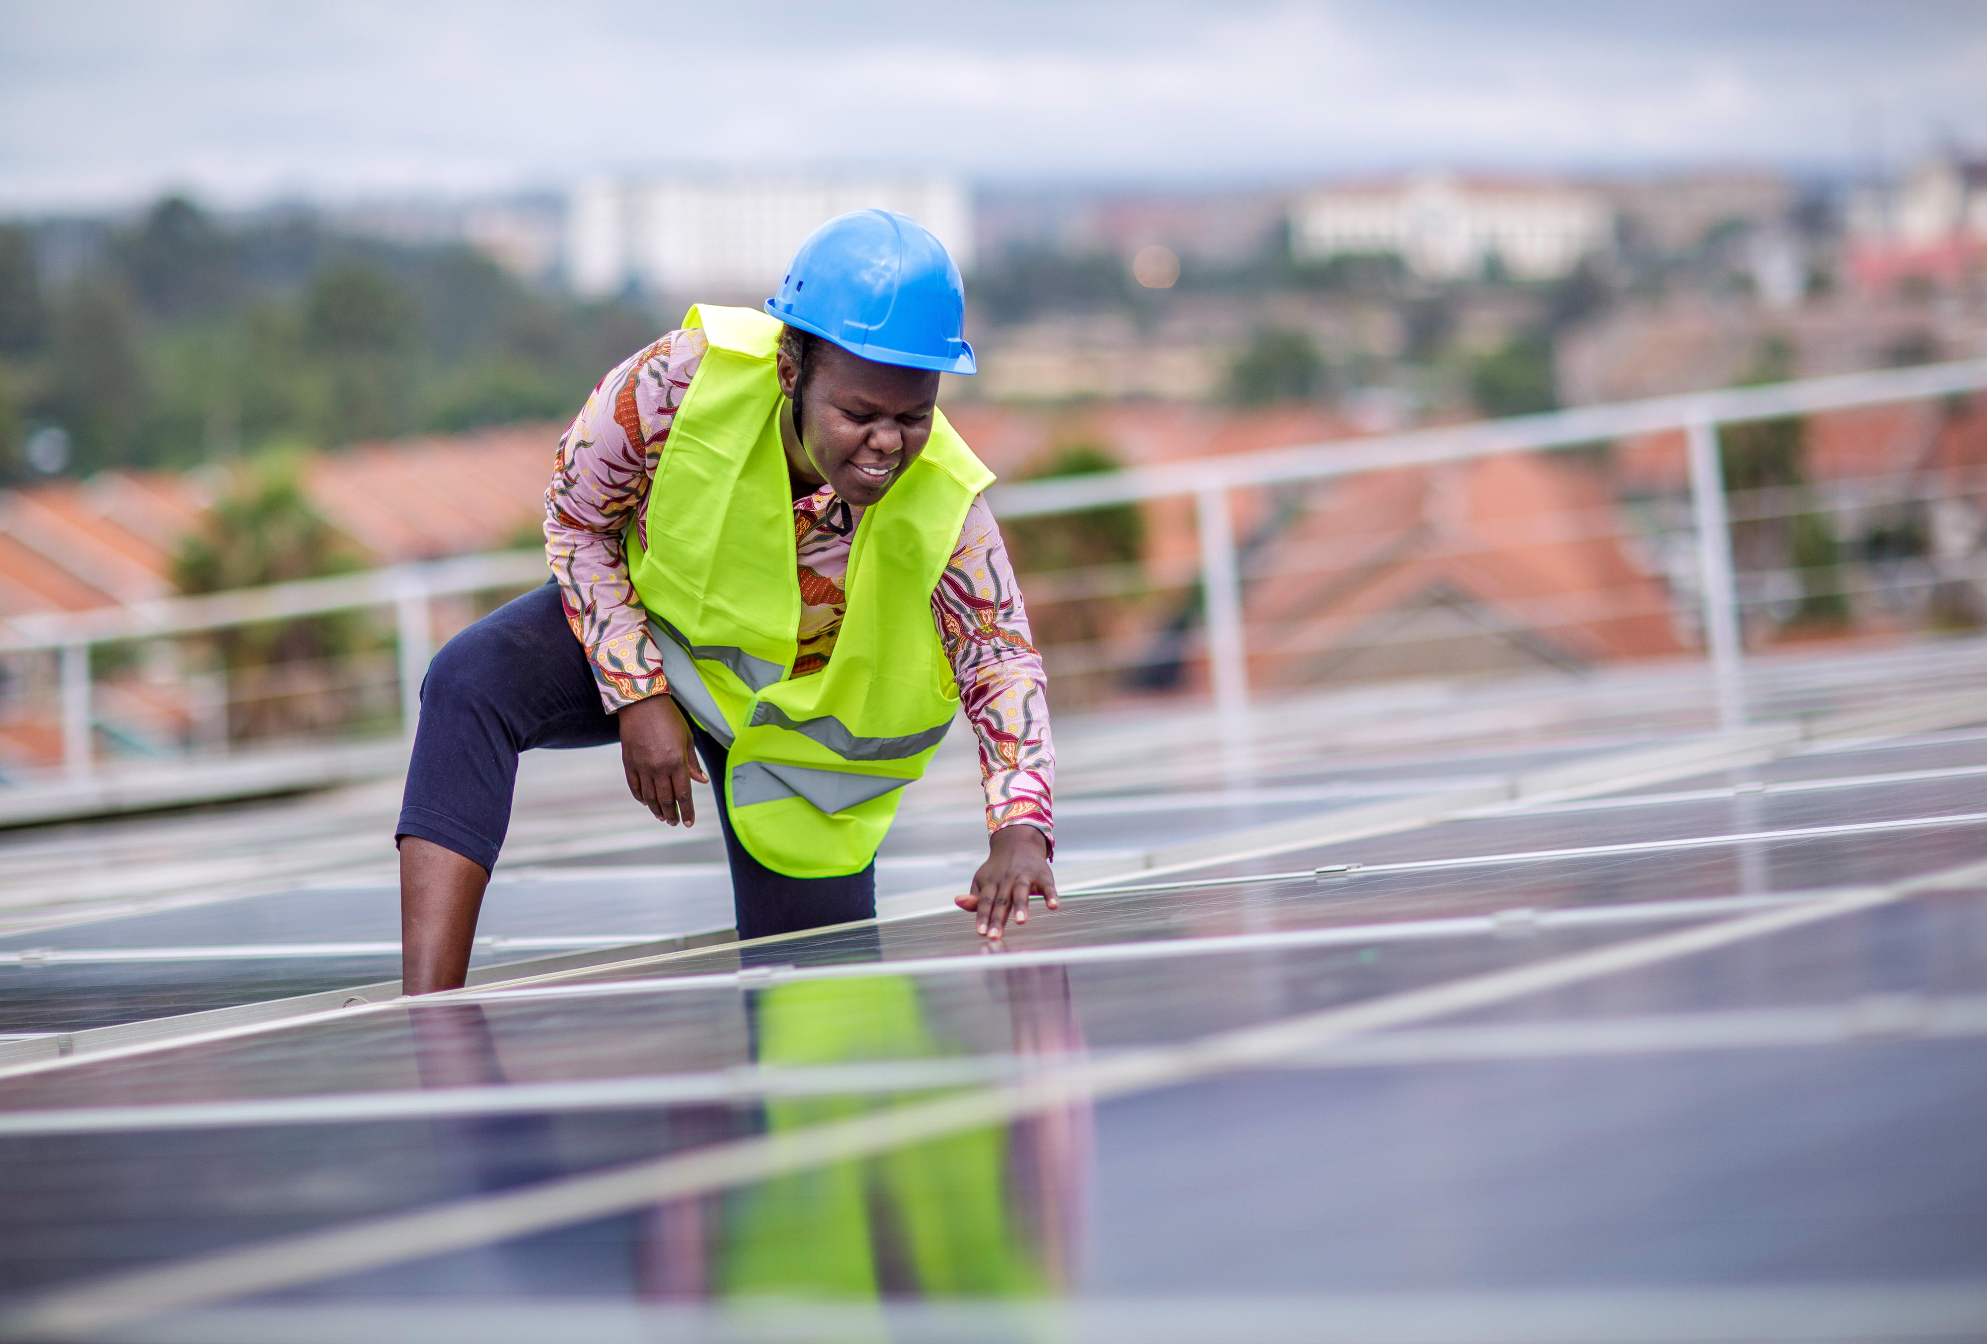
<svg viewBox="0 0 1987 1344">
<path fill-rule="evenodd" d="M 1333 439 L 1272 447 L 1228 457 L 1198 457 L 1192 461 L 1133 467 L 1081 477 L 997 485 L 988 501 L 997 517 L 1035 517 L 1045 513 L 1077 513 L 1101 505 L 1186 495 L 1196 489 L 1232 489 L 1238 485 L 1272 485 L 1278 481 L 1325 479 L 1353 471 L 1413 467 L 1462 457 L 1484 457 L 1534 447 L 1570 447 L 1619 439 L 1633 433 L 1683 429 L 1693 421 L 1743 423 L 1808 416 L 1816 412 L 1911 402 L 1987 388 L 1987 360 L 1957 364 L 1927 364 L 1921 368 L 1840 374 L 1834 378 L 1804 378 L 1762 388 L 1725 388 L 1687 396 L 1584 406 L 1542 416 L 1510 420 L 1480 420 L 1441 429 L 1413 429 L 1359 439 Z"/>
</svg>

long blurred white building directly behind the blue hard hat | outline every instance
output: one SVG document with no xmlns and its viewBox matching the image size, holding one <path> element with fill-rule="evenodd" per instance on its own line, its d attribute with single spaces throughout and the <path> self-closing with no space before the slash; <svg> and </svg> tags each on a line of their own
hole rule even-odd
<svg viewBox="0 0 1987 1344">
<path fill-rule="evenodd" d="M 654 177 L 582 187 L 566 209 L 566 280 L 590 296 L 630 282 L 654 294 L 765 298 L 813 229 L 882 207 L 974 262 L 966 189 L 944 177 Z"/>
</svg>

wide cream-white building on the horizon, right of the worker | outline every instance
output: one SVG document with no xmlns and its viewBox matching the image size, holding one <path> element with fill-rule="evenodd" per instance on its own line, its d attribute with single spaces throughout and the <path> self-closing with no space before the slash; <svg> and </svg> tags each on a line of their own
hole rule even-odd
<svg viewBox="0 0 1987 1344">
<path fill-rule="evenodd" d="M 1393 252 L 1415 274 L 1454 280 L 1490 258 L 1522 280 L 1564 276 L 1613 235 L 1607 201 L 1586 187 L 1421 173 L 1325 187 L 1290 213 L 1299 260 Z"/>
</svg>

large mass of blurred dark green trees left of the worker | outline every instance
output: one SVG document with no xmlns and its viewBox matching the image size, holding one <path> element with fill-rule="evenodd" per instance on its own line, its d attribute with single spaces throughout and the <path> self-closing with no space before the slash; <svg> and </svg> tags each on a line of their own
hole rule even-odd
<svg viewBox="0 0 1987 1344">
<path fill-rule="evenodd" d="M 564 420 L 658 326 L 538 292 L 465 247 L 368 243 L 308 217 L 229 227 L 179 197 L 64 235 L 62 278 L 42 235 L 0 227 L 0 483 L 34 475 L 24 443 L 48 425 L 81 475 Z"/>
</svg>

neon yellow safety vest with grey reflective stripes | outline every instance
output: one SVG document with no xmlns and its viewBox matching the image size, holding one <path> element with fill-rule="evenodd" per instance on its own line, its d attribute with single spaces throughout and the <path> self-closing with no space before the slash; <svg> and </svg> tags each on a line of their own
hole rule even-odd
<svg viewBox="0 0 1987 1344">
<path fill-rule="evenodd" d="M 994 481 L 934 416 L 924 453 L 870 505 L 848 549 L 848 610 L 829 666 L 795 678 L 801 583 L 773 356 L 781 324 L 697 306 L 709 348 L 650 489 L 628 573 L 676 702 L 729 750 L 731 827 L 791 877 L 860 871 L 952 726 L 960 690 L 932 590 Z"/>
</svg>

